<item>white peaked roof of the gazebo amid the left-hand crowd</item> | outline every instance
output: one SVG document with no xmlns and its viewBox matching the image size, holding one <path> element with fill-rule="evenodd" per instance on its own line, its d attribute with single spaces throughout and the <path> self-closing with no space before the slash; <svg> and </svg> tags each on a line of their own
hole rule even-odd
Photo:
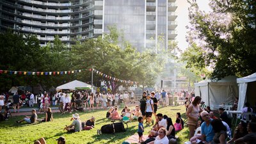
<svg viewBox="0 0 256 144">
<path fill-rule="evenodd" d="M 92 85 L 84 83 L 82 81 L 74 80 L 74 81 L 71 81 L 69 83 L 62 84 L 61 86 L 58 86 L 56 89 L 59 89 L 59 90 L 63 90 L 63 89 L 75 90 L 76 88 L 92 88 Z"/>
</svg>

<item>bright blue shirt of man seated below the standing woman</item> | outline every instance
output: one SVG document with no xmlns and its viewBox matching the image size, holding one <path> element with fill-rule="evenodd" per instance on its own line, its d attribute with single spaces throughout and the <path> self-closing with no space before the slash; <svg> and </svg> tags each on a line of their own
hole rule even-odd
<svg viewBox="0 0 256 144">
<path fill-rule="evenodd" d="M 212 121 L 212 119 L 211 119 Z M 212 125 L 209 124 L 208 126 L 206 125 L 205 122 L 203 122 L 203 124 L 201 125 L 201 132 L 202 135 L 205 135 L 205 141 L 212 141 L 213 137 L 214 137 L 214 131 L 212 129 Z"/>
</svg>

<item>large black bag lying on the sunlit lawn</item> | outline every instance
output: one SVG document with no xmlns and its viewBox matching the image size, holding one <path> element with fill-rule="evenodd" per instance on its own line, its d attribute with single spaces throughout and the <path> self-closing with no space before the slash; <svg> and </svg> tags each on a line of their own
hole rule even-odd
<svg viewBox="0 0 256 144">
<path fill-rule="evenodd" d="M 102 125 L 100 130 L 97 131 L 98 134 L 115 134 L 115 132 L 125 132 L 128 129 L 128 125 L 126 124 L 126 128 L 124 127 L 124 122 L 117 122 L 107 125 Z"/>
</svg>

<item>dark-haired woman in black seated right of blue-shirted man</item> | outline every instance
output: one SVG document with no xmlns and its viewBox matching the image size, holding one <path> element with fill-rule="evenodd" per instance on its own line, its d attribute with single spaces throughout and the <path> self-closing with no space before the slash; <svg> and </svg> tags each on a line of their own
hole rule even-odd
<svg viewBox="0 0 256 144">
<path fill-rule="evenodd" d="M 223 125 L 222 121 L 219 119 L 214 119 L 211 122 L 212 129 L 214 131 L 214 137 L 211 141 L 211 144 L 225 144 L 227 143 L 226 138 L 227 138 L 227 127 Z"/>
</svg>

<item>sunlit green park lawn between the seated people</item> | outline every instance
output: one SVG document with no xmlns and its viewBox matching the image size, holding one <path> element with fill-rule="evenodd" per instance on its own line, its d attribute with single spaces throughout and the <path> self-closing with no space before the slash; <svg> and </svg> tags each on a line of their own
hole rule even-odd
<svg viewBox="0 0 256 144">
<path fill-rule="evenodd" d="M 133 109 L 133 108 L 132 108 Z M 122 109 L 119 109 L 121 111 Z M 157 113 L 163 113 L 171 117 L 173 123 L 176 118 L 177 112 L 182 114 L 182 118 L 185 116 L 184 106 L 169 106 L 165 108 L 159 108 Z M 95 116 L 95 128 L 90 131 L 81 131 L 72 134 L 68 134 L 63 131 L 65 125 L 70 125 L 72 122 L 70 118 L 72 114 L 65 113 L 65 115 L 60 115 L 60 113 L 53 113 L 53 122 L 38 122 L 37 124 L 22 124 L 15 123 L 16 120 L 24 118 L 24 116 L 13 116 L 8 121 L 0 122 L 0 143 L 33 143 L 41 137 L 44 137 L 47 143 L 56 143 L 56 139 L 60 136 L 65 136 L 67 143 L 122 143 L 127 140 L 129 136 L 135 134 L 138 129 L 138 122 L 135 120 L 128 123 L 128 131 L 116 134 L 97 134 L 97 129 L 100 129 L 102 125 L 110 124 L 110 120 L 106 118 L 106 110 L 95 110 L 85 113 L 79 113 L 81 120 L 88 120 L 91 116 Z M 73 113 L 74 114 L 74 113 Z M 45 115 L 38 115 L 38 118 L 42 118 Z M 147 135 L 150 131 L 150 127 L 145 128 L 144 135 Z M 184 143 L 188 140 L 188 128 L 185 127 L 182 131 L 177 132 L 179 136 L 178 143 Z"/>
</svg>

